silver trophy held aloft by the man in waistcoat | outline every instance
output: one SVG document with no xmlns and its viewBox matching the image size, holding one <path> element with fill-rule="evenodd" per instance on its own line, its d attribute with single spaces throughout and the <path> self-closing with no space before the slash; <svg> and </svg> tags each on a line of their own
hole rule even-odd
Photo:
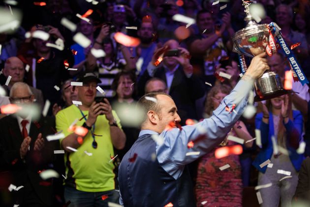
<svg viewBox="0 0 310 207">
<path fill-rule="evenodd" d="M 245 0 L 242 1 L 247 14 L 245 18 L 247 26 L 236 32 L 233 36 L 233 52 L 238 53 L 242 57 L 245 55 L 252 58 L 266 51 L 266 47 L 269 44 L 269 25 L 257 24 L 249 12 L 250 3 Z M 241 65 L 246 67 L 245 61 Z M 256 92 L 254 101 L 272 99 L 287 93 L 283 89 L 279 75 L 272 71 L 265 72 L 261 77 L 256 79 L 254 88 Z"/>
</svg>

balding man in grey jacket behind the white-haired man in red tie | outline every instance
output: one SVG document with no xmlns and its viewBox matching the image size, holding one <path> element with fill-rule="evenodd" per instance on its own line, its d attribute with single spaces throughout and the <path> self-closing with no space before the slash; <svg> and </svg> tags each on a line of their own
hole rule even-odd
<svg viewBox="0 0 310 207">
<path fill-rule="evenodd" d="M 5 61 L 3 75 L 8 78 L 11 76 L 11 80 L 8 85 L 2 85 L 7 94 L 10 93 L 11 87 L 16 82 L 24 82 L 25 67 L 24 63 L 18 57 L 10 57 Z M 44 105 L 42 91 L 30 86 L 31 92 L 34 95 L 36 103 L 38 103 L 42 108 Z"/>
</svg>

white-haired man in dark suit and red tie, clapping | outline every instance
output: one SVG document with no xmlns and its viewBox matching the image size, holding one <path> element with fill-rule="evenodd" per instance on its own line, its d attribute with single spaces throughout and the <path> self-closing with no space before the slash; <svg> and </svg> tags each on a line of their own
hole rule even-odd
<svg viewBox="0 0 310 207">
<path fill-rule="evenodd" d="M 10 102 L 33 104 L 34 96 L 29 86 L 23 82 L 11 88 Z M 23 117 L 22 117 L 23 116 Z M 26 117 L 25 117 L 26 116 Z M 40 172 L 48 169 L 53 158 L 53 144 L 45 140 L 55 134 L 55 121 L 47 117 L 34 120 L 32 114 L 12 114 L 0 119 L 0 171 L 7 177 L 7 186 L 24 186 L 18 191 L 6 192 L 13 198 L 8 203 L 25 207 L 48 207 L 52 202 L 52 182 L 42 180 Z M 3 187 L 3 186 L 2 186 Z M 7 191 L 7 190 L 6 190 Z M 10 198 L 10 197 L 9 197 Z M 2 204 L 8 205 L 6 204 Z M 0 204 L 0 206 L 2 206 Z"/>
</svg>

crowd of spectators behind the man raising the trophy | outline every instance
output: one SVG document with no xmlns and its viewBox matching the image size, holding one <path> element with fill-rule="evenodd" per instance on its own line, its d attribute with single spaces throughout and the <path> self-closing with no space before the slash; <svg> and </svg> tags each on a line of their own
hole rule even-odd
<svg viewBox="0 0 310 207">
<path fill-rule="evenodd" d="M 276 22 L 286 43 L 298 45 L 292 50 L 310 79 L 310 2 L 256 2 L 265 10 L 259 23 Z M 212 116 L 240 79 L 232 37 L 246 25 L 242 0 L 5 0 L 1 7 L 8 12 L 0 18 L 14 12 L 22 18 L 4 32 L 0 22 L 0 107 L 37 105 L 46 114 L 35 119 L 31 108 L 23 115 L 0 114 L 0 206 L 118 203 L 118 167 L 139 136 L 139 98 L 169 94 L 184 126 Z M 187 27 L 176 14 L 195 24 Z M 74 32 L 63 18 L 76 26 Z M 49 37 L 34 35 L 42 31 Z M 129 40 L 115 38 L 118 33 L 139 43 L 127 45 Z M 290 66 L 281 48 L 267 60 L 284 83 Z M 309 158 L 303 162 L 310 155 L 309 86 L 293 81 L 286 95 L 254 106 L 252 118 L 241 117 L 221 144 L 188 164 L 197 206 L 257 206 L 262 199 L 262 206 L 288 207 L 292 200 L 310 201 Z M 77 134 L 74 124 L 91 133 Z M 61 141 L 47 140 L 55 133 L 63 134 Z M 229 136 L 244 140 L 243 153 L 217 159 L 217 148 L 238 144 Z M 230 168 L 220 170 L 226 164 Z M 47 169 L 59 176 L 42 179 Z M 258 201 L 250 200 L 254 186 L 269 183 L 256 191 Z M 24 187 L 9 192 L 10 184 Z"/>
</svg>

